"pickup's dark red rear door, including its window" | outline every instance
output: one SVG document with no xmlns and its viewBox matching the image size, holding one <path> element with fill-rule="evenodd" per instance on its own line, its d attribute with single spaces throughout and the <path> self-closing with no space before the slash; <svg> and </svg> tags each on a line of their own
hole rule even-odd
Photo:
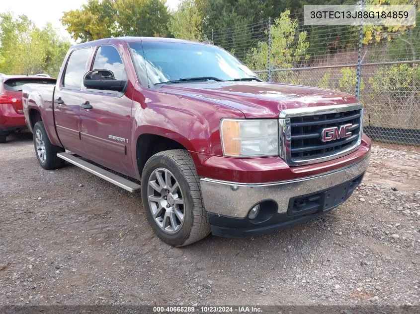
<svg viewBox="0 0 420 314">
<path fill-rule="evenodd" d="M 71 52 L 62 81 L 54 91 L 54 117 L 58 137 L 64 148 L 83 155 L 80 139 L 80 106 L 83 76 L 91 55 L 90 47 Z"/>
</svg>

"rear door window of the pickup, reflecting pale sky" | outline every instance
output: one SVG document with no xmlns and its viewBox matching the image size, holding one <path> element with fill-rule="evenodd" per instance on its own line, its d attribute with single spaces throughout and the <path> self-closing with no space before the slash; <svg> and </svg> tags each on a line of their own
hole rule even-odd
<svg viewBox="0 0 420 314">
<path fill-rule="evenodd" d="M 78 49 L 72 52 L 64 73 L 63 86 L 71 89 L 81 89 L 90 48 Z"/>
</svg>

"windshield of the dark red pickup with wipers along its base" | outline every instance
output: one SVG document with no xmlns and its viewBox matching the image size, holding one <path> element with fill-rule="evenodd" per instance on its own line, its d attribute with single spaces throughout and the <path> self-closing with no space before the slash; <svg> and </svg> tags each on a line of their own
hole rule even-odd
<svg viewBox="0 0 420 314">
<path fill-rule="evenodd" d="M 143 49 L 142 43 L 129 45 L 137 73 L 140 76 L 147 71 L 150 86 L 182 78 L 232 80 L 256 76 L 234 56 L 211 45 L 143 42 Z"/>
</svg>

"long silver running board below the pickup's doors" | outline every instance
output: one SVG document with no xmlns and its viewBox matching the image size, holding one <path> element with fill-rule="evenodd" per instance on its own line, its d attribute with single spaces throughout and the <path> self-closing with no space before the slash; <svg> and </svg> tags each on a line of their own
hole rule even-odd
<svg viewBox="0 0 420 314">
<path fill-rule="evenodd" d="M 84 161 L 83 159 L 76 157 L 75 155 L 69 153 L 58 153 L 58 157 L 68 161 L 69 163 L 82 168 L 99 178 L 102 178 L 120 188 L 124 188 L 129 192 L 137 193 L 140 192 L 140 185 L 134 183 L 130 180 L 122 178 L 112 172 L 109 172 L 105 169 L 99 168 L 98 166 L 92 165 L 91 163 Z"/>
</svg>

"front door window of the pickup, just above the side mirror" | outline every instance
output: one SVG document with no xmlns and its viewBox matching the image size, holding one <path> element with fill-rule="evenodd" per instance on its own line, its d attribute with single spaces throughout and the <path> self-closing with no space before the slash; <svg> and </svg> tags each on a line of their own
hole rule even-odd
<svg viewBox="0 0 420 314">
<path fill-rule="evenodd" d="M 112 46 L 100 46 L 93 62 L 92 70 L 109 70 L 114 73 L 115 79 L 126 80 L 124 64 L 122 63 L 120 54 Z"/>
</svg>

